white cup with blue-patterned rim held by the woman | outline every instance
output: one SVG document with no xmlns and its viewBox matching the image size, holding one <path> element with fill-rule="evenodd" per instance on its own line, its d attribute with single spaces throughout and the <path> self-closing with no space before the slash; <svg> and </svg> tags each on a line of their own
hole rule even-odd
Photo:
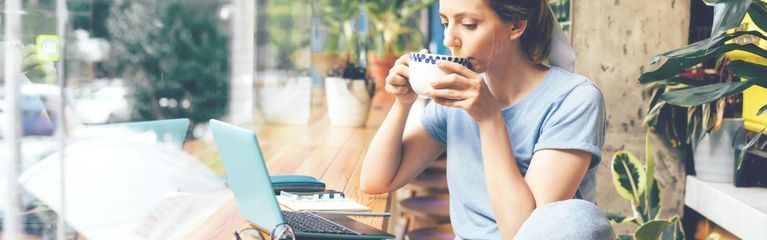
<svg viewBox="0 0 767 240">
<path fill-rule="evenodd" d="M 437 60 L 451 61 L 459 63 L 468 67 L 469 61 L 466 58 L 433 54 L 433 53 L 420 53 L 411 52 L 408 54 L 409 63 L 409 75 L 410 75 L 410 87 L 419 96 L 423 96 L 424 91 L 431 86 L 431 82 L 447 75 L 437 67 Z"/>
</svg>

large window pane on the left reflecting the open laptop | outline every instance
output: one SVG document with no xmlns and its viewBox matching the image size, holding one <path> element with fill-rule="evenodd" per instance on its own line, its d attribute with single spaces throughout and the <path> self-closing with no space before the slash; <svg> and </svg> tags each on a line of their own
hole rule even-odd
<svg viewBox="0 0 767 240">
<path fill-rule="evenodd" d="M 28 68 L 15 81 L 20 118 L 0 127 L 0 136 L 23 135 L 18 167 L 3 138 L 0 210 L 20 192 L 20 211 L 4 211 L 13 216 L 4 214 L 3 239 L 180 239 L 224 203 L 207 122 L 228 117 L 234 18 L 254 25 L 252 13 L 229 0 L 68 0 L 60 34 L 57 1 L 0 5 L 11 1 Z M 253 52 L 252 37 L 239 44 Z M 7 188 L 8 179 L 19 184 Z M 10 235 L 11 220 L 20 235 Z"/>
</svg>

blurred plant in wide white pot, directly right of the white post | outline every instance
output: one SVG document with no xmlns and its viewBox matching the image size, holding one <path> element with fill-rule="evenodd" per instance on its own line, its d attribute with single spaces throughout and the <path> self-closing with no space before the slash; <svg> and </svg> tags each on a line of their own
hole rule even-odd
<svg viewBox="0 0 767 240">
<path fill-rule="evenodd" d="M 279 0 L 265 6 L 264 38 L 256 77 L 258 103 L 269 123 L 307 124 L 311 116 L 310 29 L 307 2 Z M 259 36 L 261 37 L 261 36 Z"/>
</svg>

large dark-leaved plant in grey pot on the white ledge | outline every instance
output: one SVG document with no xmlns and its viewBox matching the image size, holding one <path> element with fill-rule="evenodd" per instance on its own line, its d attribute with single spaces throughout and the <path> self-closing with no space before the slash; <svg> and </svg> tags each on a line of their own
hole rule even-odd
<svg viewBox="0 0 767 240">
<path fill-rule="evenodd" d="M 726 17 L 723 21 L 724 25 L 735 23 L 737 26 L 747 10 L 758 27 L 767 29 L 767 4 L 762 1 L 753 1 L 747 7 L 741 6 L 747 3 L 730 0 L 716 1 L 716 4 L 742 10 L 742 14 Z M 724 28 L 730 27 L 732 26 Z M 651 65 L 656 65 L 657 68 L 642 73 L 639 78 L 640 83 L 648 84 L 652 91 L 650 110 L 644 123 L 652 130 L 664 135 L 672 146 L 692 143 L 695 148 L 696 144 L 705 143 L 708 141 L 707 138 L 715 134 L 729 134 L 720 138 L 720 142 L 726 147 L 712 148 L 705 154 L 711 156 L 716 154 L 713 151 L 729 151 L 721 155 L 724 157 L 717 158 L 718 161 L 723 161 L 718 163 L 718 167 L 711 167 L 711 162 L 698 163 L 697 161 L 702 157 L 700 155 L 693 157 L 696 171 L 703 169 L 701 167 L 709 167 L 708 170 L 724 169 L 724 172 L 714 172 L 714 175 L 705 175 L 705 170 L 697 172 L 697 175 L 704 180 L 731 181 L 732 179 L 732 171 L 726 170 L 731 168 L 722 166 L 733 165 L 735 154 L 732 142 L 735 134 L 720 131 L 720 126 L 726 122 L 724 119 L 728 103 L 737 102 L 731 101 L 732 96 L 754 85 L 767 87 L 767 79 L 764 78 L 767 76 L 767 66 L 749 59 L 729 57 L 729 54 L 734 51 L 743 51 L 756 58 L 767 58 L 765 47 L 754 44 L 753 39 L 765 41 L 767 37 L 759 31 L 729 29 L 711 38 L 657 55 L 651 61 Z M 710 69 L 705 67 L 711 65 L 714 67 Z M 730 99 L 729 102 L 728 99 Z M 765 112 L 765 109 L 767 106 L 761 107 L 756 114 Z M 736 129 L 740 128 L 737 124 L 742 124 L 742 120 L 731 122 L 734 122 Z"/>
</svg>

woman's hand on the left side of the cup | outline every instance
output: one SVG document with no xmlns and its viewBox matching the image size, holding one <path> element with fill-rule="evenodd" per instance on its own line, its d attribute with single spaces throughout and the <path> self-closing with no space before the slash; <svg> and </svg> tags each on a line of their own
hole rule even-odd
<svg viewBox="0 0 767 240">
<path fill-rule="evenodd" d="M 389 75 L 386 76 L 384 87 L 386 92 L 394 95 L 399 103 L 405 105 L 412 104 L 418 97 L 410 87 L 408 61 L 408 54 L 405 54 L 394 62 L 394 66 L 389 69 Z"/>
</svg>

